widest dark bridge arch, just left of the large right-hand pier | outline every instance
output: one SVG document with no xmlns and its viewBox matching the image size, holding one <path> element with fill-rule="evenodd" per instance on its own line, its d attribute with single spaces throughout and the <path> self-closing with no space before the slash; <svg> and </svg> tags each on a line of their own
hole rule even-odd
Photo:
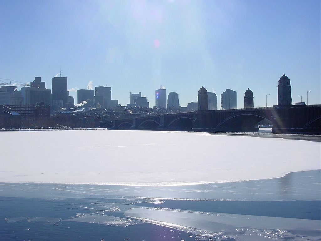
<svg viewBox="0 0 321 241">
<path fill-rule="evenodd" d="M 232 128 L 241 131 L 251 131 L 253 129 L 257 129 L 257 124 L 264 119 L 272 121 L 257 114 L 236 114 L 221 121 L 216 126 L 216 129 Z"/>
</svg>

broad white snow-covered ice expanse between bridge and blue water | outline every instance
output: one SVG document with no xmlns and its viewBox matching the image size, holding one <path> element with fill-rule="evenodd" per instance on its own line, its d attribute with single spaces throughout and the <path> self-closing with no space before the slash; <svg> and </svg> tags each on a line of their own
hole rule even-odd
<svg viewBox="0 0 321 241">
<path fill-rule="evenodd" d="M 320 143 L 137 130 L 0 132 L 0 182 L 185 185 L 320 169 Z"/>
</svg>

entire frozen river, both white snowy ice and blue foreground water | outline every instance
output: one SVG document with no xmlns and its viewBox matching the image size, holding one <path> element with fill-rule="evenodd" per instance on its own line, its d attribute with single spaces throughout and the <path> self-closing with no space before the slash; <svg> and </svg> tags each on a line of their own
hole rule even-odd
<svg viewBox="0 0 321 241">
<path fill-rule="evenodd" d="M 321 239 L 320 142 L 112 130 L 0 137 L 1 240 Z"/>
</svg>

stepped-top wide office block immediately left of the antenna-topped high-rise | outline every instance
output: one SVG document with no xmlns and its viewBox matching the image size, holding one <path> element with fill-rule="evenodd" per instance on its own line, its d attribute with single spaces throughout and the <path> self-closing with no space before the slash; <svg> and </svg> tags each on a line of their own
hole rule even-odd
<svg viewBox="0 0 321 241">
<path fill-rule="evenodd" d="M 41 81 L 41 77 L 35 77 L 35 81 L 30 83 L 30 88 L 22 87 L 20 92 L 23 97 L 23 103 L 26 105 L 35 105 L 40 102 L 45 105 L 51 105 L 50 90 L 46 89 L 46 84 Z"/>
</svg>

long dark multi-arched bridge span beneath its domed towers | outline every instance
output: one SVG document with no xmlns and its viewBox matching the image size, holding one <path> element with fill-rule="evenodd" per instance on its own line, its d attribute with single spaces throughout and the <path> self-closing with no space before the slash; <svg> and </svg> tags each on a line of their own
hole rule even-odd
<svg viewBox="0 0 321 241">
<path fill-rule="evenodd" d="M 139 130 L 257 131 L 262 120 L 272 132 L 320 133 L 321 105 L 290 105 L 160 114 L 101 122 L 100 127 Z"/>
</svg>

